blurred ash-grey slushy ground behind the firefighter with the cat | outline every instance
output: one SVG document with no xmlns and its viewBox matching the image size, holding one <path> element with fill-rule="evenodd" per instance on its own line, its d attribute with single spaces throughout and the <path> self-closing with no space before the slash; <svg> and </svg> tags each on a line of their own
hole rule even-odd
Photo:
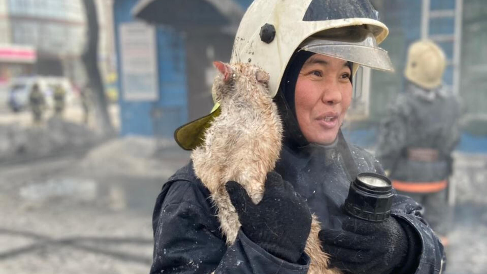
<svg viewBox="0 0 487 274">
<path fill-rule="evenodd" d="M 446 273 L 484 274 L 487 156 L 455 157 Z M 0 163 L 0 274 L 149 273 L 155 198 L 188 160 L 171 141 L 127 137 L 83 154 Z"/>
</svg>

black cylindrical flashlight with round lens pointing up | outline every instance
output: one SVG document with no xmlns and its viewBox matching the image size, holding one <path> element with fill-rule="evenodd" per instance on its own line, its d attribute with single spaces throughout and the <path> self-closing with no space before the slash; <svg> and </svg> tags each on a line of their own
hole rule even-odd
<svg viewBox="0 0 487 274">
<path fill-rule="evenodd" d="M 350 184 L 344 210 L 354 217 L 381 222 L 391 215 L 393 187 L 391 180 L 376 173 L 359 173 Z"/>
</svg>

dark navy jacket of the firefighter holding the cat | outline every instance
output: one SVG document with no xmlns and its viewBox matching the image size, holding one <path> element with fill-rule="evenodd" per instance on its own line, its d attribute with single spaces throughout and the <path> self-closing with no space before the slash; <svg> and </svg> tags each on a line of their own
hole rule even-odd
<svg viewBox="0 0 487 274">
<path fill-rule="evenodd" d="M 350 152 L 358 171 L 382 173 L 380 164 L 364 150 L 352 147 Z M 340 206 L 350 183 L 337 148 L 310 147 L 296 154 L 284 147 L 276 171 L 306 197 L 323 227 L 340 227 L 339 220 L 344 215 Z M 227 247 L 209 195 L 194 175 L 191 163 L 169 178 L 157 197 L 153 213 L 154 253 L 150 273 L 307 273 L 306 254 L 304 264 L 291 264 L 267 253 L 242 231 L 235 243 Z M 395 196 L 393 216 L 409 223 L 421 239 L 422 252 L 415 273 L 438 274 L 443 247 L 422 219 L 421 210 L 412 199 Z"/>
</svg>

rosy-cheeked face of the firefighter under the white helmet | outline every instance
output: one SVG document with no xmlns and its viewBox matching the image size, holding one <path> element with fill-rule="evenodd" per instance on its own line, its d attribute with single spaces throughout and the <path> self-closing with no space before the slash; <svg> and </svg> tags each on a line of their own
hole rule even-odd
<svg viewBox="0 0 487 274">
<path fill-rule="evenodd" d="M 352 101 L 347 61 L 315 54 L 306 60 L 296 82 L 296 117 L 309 142 L 330 144 L 337 138 Z"/>
</svg>

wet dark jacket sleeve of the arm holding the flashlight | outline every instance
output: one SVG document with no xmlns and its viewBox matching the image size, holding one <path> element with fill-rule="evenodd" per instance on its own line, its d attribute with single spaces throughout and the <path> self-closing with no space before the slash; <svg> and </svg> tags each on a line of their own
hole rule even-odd
<svg viewBox="0 0 487 274">
<path fill-rule="evenodd" d="M 394 197 L 392 215 L 405 221 L 421 242 L 417 254 L 418 267 L 414 274 L 440 274 L 446 260 L 443 245 L 433 233 L 430 225 L 424 220 L 423 208 L 412 198 L 403 195 Z"/>
</svg>

